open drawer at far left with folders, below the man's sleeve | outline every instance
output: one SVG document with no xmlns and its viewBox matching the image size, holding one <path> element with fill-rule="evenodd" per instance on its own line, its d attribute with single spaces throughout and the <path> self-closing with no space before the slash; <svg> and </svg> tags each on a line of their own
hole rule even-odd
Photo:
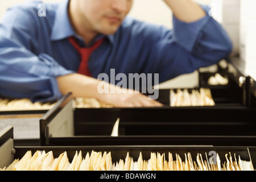
<svg viewBox="0 0 256 182">
<path fill-rule="evenodd" d="M 15 139 L 39 139 L 39 119 L 54 103 L 0 97 L 0 130 L 14 126 Z"/>
</svg>

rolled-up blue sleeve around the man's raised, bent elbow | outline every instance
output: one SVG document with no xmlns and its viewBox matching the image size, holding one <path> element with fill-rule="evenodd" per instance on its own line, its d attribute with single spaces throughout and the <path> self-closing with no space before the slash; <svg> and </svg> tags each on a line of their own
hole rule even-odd
<svg viewBox="0 0 256 182">
<path fill-rule="evenodd" d="M 213 51 L 214 54 L 210 56 L 219 60 L 232 51 L 232 42 L 224 28 L 210 16 L 210 7 L 205 5 L 201 7 L 207 15 L 196 22 L 185 23 L 173 16 L 174 39 L 188 52 Z M 220 57 L 215 54 L 217 51 L 221 53 Z"/>
</svg>

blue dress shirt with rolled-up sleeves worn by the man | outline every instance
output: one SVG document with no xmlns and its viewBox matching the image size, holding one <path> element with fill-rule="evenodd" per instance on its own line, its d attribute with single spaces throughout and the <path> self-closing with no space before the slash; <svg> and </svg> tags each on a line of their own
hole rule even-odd
<svg viewBox="0 0 256 182">
<path fill-rule="evenodd" d="M 47 3 L 46 16 L 32 1 L 7 10 L 0 23 L 0 95 L 54 101 L 62 95 L 56 77 L 77 72 L 80 55 L 69 42 L 76 36 L 68 18 L 68 0 Z M 174 29 L 126 17 L 113 35 L 92 53 L 89 70 L 100 73 L 159 73 L 163 82 L 216 64 L 229 55 L 232 43 L 209 14 L 185 23 L 174 17 Z M 99 35 L 102 37 L 104 35 Z M 96 39 L 98 39 L 97 37 Z"/>
</svg>

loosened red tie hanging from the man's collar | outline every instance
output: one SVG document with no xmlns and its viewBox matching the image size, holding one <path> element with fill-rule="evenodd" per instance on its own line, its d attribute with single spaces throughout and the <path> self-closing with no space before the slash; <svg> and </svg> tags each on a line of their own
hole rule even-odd
<svg viewBox="0 0 256 182">
<path fill-rule="evenodd" d="M 91 53 L 101 45 L 103 40 L 104 39 L 97 40 L 97 42 L 94 43 L 92 47 L 84 48 L 79 46 L 74 37 L 69 38 L 69 42 L 71 42 L 71 44 L 77 49 L 81 56 L 81 63 L 77 73 L 92 77 L 88 68 L 89 57 Z"/>
</svg>

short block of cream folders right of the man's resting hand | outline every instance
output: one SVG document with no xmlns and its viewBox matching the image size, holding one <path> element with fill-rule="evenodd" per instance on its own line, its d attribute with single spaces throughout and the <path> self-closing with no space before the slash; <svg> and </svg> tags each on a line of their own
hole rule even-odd
<svg viewBox="0 0 256 182">
<path fill-rule="evenodd" d="M 210 89 L 207 88 L 200 88 L 199 90 L 192 89 L 191 93 L 188 92 L 188 89 L 177 89 L 177 92 L 171 89 L 170 105 L 172 107 L 214 106 L 215 103 L 213 101 Z"/>
</svg>

